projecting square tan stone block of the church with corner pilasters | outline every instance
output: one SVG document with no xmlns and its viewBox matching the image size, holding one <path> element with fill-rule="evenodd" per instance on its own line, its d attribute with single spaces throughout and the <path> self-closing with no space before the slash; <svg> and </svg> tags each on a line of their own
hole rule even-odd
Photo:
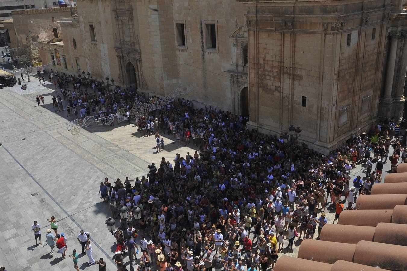
<svg viewBox="0 0 407 271">
<path fill-rule="evenodd" d="M 357 0 L 252 7 L 250 124 L 276 134 L 300 126 L 301 140 L 318 151 L 369 130 L 383 84 L 389 12 L 383 1 Z"/>
</svg>

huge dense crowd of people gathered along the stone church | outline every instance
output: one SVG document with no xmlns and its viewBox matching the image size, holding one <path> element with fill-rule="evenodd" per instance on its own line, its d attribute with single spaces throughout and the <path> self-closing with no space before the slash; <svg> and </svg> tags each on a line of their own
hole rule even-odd
<svg viewBox="0 0 407 271">
<path fill-rule="evenodd" d="M 119 89 L 98 98 L 104 93 L 95 87 L 89 87 L 93 93 L 84 91 L 76 83 L 79 77 L 57 72 L 53 76 L 67 107 L 80 111 L 78 118 L 108 116 L 120 108 L 130 111 L 134 101 L 150 98 Z M 69 84 L 75 85 L 73 91 Z M 335 212 L 335 223 L 359 195 L 369 194 L 381 182 L 383 163 L 396 165 L 400 157 L 401 162 L 407 157 L 406 130 L 392 121 L 380 122 L 323 155 L 304 144 L 284 143 L 281 136 L 249 129 L 243 116 L 194 108 L 184 98 L 148 114 L 131 121 L 140 133 L 158 139 L 158 150 L 165 148 L 165 134 L 196 151 L 162 157 L 141 178 L 101 182 L 99 192 L 112 217 L 120 217 L 120 205 L 129 212 L 129 228 L 114 233 L 118 270 L 128 267 L 125 251 L 141 271 L 273 270 L 279 254 L 293 252 L 293 245 L 304 239 L 319 238 L 328 223 L 326 212 Z M 366 167 L 366 176 L 351 178 L 357 164 Z M 132 214 L 137 206 L 140 219 Z"/>
</svg>

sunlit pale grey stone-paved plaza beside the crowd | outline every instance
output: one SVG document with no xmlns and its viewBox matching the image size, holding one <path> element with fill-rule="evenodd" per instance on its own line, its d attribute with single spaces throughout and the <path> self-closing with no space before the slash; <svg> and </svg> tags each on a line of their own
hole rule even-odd
<svg viewBox="0 0 407 271">
<path fill-rule="evenodd" d="M 159 164 L 161 157 L 172 160 L 176 153 L 185 156 L 189 151 L 192 155 L 195 149 L 176 146 L 171 135 L 164 136 L 165 148 L 157 153 L 154 138 L 143 137 L 133 123 L 90 125 L 72 135 L 66 122 L 74 117 L 66 118 L 66 111 L 54 112 L 54 85 L 39 85 L 35 77 L 31 79 L 23 82 L 27 90 L 18 85 L 0 90 L 0 266 L 9 271 L 74 270 L 68 254 L 73 248 L 80 252 L 77 236 L 84 229 L 90 232 L 95 260 L 103 257 L 107 270 L 116 271 L 111 260 L 116 239 L 105 225 L 110 211 L 98 195 L 100 182 L 105 177 L 141 177 L 151 162 Z M 45 97 L 45 105 L 37 106 L 39 94 Z M 389 167 L 385 164 L 383 175 Z M 358 166 L 352 176 L 364 177 L 363 170 Z M 335 210 L 328 210 L 329 223 Z M 45 235 L 51 216 L 58 221 L 58 233 L 66 234 L 65 260 L 57 253 L 49 256 Z M 34 220 L 42 228 L 42 245 L 37 247 L 31 230 Z M 297 255 L 299 242 L 294 244 L 293 251 L 285 255 Z M 88 257 L 81 255 L 79 269 L 98 267 L 89 267 Z"/>
</svg>

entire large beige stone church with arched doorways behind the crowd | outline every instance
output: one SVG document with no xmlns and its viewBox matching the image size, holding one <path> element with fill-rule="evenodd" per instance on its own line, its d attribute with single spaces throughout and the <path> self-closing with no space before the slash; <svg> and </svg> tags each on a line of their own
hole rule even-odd
<svg viewBox="0 0 407 271">
<path fill-rule="evenodd" d="M 389 0 L 83 0 L 59 20 L 60 68 L 160 96 L 194 85 L 186 98 L 197 104 L 267 133 L 300 126 L 301 141 L 326 151 L 379 116 L 402 116 L 404 10 Z M 55 46 L 44 46 L 49 62 Z"/>
</svg>

